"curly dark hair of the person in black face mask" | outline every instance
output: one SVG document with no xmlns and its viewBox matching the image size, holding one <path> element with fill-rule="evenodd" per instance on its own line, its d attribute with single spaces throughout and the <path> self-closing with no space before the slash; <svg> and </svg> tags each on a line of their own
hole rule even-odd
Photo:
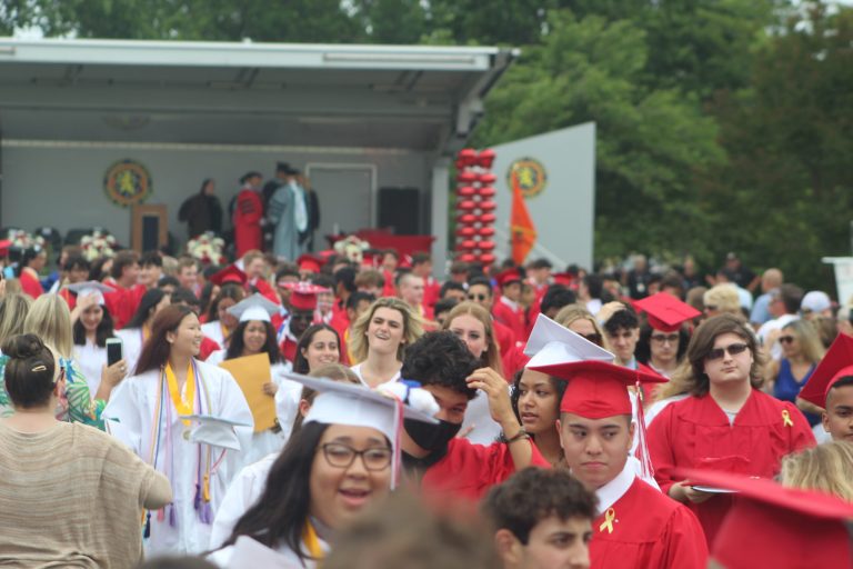
<svg viewBox="0 0 853 569">
<path fill-rule="evenodd" d="M 407 348 L 400 377 L 448 387 L 473 399 L 476 390 L 468 387 L 465 378 L 479 367 L 480 361 L 453 332 L 428 332 Z"/>
</svg>

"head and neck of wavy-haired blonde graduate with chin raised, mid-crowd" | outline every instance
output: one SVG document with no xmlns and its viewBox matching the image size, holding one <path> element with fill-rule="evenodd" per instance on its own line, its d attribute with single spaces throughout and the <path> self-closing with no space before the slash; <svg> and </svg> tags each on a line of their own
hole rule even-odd
<svg viewBox="0 0 853 569">
<path fill-rule="evenodd" d="M 370 387 L 397 381 L 407 346 L 421 336 L 421 317 L 399 298 L 382 297 L 352 327 L 350 351 L 355 365 L 351 369 Z"/>
</svg>

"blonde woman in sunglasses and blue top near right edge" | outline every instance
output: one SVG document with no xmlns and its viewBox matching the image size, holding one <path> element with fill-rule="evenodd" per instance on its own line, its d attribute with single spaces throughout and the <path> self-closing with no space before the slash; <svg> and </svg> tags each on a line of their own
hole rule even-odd
<svg viewBox="0 0 853 569">
<path fill-rule="evenodd" d="M 809 425 L 814 427 L 821 422 L 821 409 L 807 401 L 797 401 L 800 390 L 812 377 L 814 368 L 823 359 L 826 350 L 821 338 L 810 320 L 793 320 L 782 327 L 779 336 L 782 346 L 782 358 L 772 360 L 767 377 L 771 378 L 766 391 L 782 401 L 791 401 L 804 411 Z"/>
</svg>

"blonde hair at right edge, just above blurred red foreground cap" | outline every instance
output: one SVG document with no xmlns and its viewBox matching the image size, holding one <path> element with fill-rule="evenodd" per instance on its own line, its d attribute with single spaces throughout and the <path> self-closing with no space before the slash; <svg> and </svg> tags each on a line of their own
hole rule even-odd
<svg viewBox="0 0 853 569">
<path fill-rule="evenodd" d="M 853 502 L 853 443 L 835 440 L 782 460 L 782 486 L 821 490 Z"/>
</svg>

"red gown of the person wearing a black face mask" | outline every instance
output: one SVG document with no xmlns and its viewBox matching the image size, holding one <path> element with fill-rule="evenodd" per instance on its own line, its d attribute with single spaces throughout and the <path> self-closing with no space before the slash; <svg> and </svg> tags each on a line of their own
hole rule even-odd
<svg viewBox="0 0 853 569">
<path fill-rule="evenodd" d="M 532 441 L 532 466 L 551 468 Z M 448 445 L 448 453 L 423 475 L 421 487 L 426 492 L 479 500 L 493 485 L 515 472 L 515 463 L 506 445 L 474 445 L 456 437 Z"/>
</svg>

